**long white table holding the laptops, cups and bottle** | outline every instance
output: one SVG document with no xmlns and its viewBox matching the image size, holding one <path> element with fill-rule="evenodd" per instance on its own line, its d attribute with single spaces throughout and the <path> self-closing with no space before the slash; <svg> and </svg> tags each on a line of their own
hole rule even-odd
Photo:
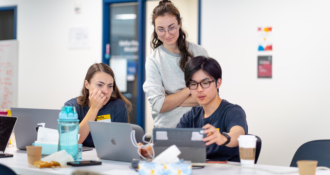
<svg viewBox="0 0 330 175">
<path fill-rule="evenodd" d="M 110 170 L 125 170 L 128 174 L 138 175 L 138 173 L 130 168 L 130 162 L 103 160 L 96 157 L 96 150 L 83 151 L 82 160 L 98 160 L 102 161 L 102 165 L 81 166 L 81 167 L 65 167 L 65 168 L 34 168 L 27 164 L 27 155 L 25 150 L 17 150 L 16 147 L 8 147 L 5 153 L 13 154 L 11 158 L 1 158 L 0 163 L 13 169 L 19 175 L 71 175 L 76 170 L 86 170 L 95 173 L 105 173 Z M 226 165 L 239 165 L 237 162 L 228 162 Z M 255 168 L 261 168 L 277 172 L 297 171 L 296 167 L 273 166 L 255 164 Z M 192 175 L 269 175 L 267 171 L 247 169 L 247 168 L 232 168 L 219 166 L 205 166 L 202 169 L 193 169 Z M 329 175 L 330 171 L 316 170 L 316 175 Z M 299 175 L 299 173 L 291 173 L 289 175 Z"/>
</svg>

